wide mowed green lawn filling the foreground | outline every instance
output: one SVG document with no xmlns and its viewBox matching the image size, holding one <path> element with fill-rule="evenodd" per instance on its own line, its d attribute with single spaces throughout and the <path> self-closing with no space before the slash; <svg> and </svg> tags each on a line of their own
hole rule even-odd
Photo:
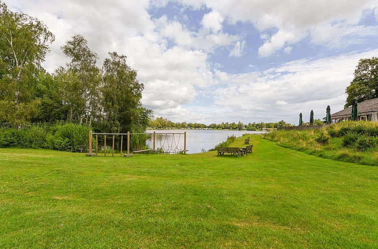
<svg viewBox="0 0 378 249">
<path fill-rule="evenodd" d="M 378 167 L 251 140 L 244 157 L 2 148 L 0 248 L 378 247 Z"/>
</svg>

